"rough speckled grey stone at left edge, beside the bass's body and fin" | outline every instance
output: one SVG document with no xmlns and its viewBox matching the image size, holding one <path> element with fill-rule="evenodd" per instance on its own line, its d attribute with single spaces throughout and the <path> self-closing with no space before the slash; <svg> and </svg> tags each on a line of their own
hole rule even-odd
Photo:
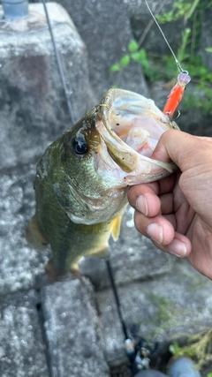
<svg viewBox="0 0 212 377">
<path fill-rule="evenodd" d="M 0 177 L 0 294 L 42 284 L 48 250 L 36 252 L 25 239 L 34 213 L 34 165 Z"/>
</svg>

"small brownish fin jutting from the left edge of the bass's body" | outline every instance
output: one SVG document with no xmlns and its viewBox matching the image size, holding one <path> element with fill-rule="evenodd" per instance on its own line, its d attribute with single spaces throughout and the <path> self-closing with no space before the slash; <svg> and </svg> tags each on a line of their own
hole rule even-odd
<svg viewBox="0 0 212 377">
<path fill-rule="evenodd" d="M 32 245 L 35 250 L 44 250 L 48 245 L 48 242 L 42 236 L 35 215 L 28 224 L 25 236 L 27 242 Z"/>
</svg>

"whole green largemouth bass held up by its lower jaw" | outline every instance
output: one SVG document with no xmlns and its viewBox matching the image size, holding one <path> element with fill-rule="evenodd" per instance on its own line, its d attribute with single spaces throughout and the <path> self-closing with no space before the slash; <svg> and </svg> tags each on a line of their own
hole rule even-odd
<svg viewBox="0 0 212 377">
<path fill-rule="evenodd" d="M 178 128 L 140 94 L 110 89 L 45 151 L 34 179 L 36 212 L 27 240 L 48 244 L 57 275 L 78 270 L 84 255 L 109 256 L 117 240 L 127 190 L 161 179 L 177 169 L 151 155 L 160 136 Z"/>
</svg>

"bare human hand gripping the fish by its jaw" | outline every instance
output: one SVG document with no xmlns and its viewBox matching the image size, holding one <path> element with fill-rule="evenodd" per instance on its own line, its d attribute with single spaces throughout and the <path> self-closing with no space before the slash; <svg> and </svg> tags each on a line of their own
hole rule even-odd
<svg viewBox="0 0 212 377">
<path fill-rule="evenodd" d="M 170 130 L 163 133 L 152 158 L 173 161 L 180 171 L 130 188 L 135 227 L 156 247 L 188 257 L 212 279 L 212 138 Z"/>
</svg>

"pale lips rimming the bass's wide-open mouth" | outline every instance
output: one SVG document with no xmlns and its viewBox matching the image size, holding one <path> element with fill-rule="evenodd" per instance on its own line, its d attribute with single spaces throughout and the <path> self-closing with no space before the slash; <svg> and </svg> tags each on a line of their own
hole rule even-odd
<svg viewBox="0 0 212 377">
<path fill-rule="evenodd" d="M 133 147 L 130 147 L 121 139 L 117 133 L 113 130 L 110 124 L 110 109 L 113 105 L 113 102 L 116 101 L 116 96 L 122 95 L 127 97 L 127 95 L 132 95 L 133 92 L 128 92 L 122 89 L 110 89 L 110 91 L 105 94 L 105 97 L 102 100 L 102 103 L 99 105 L 98 108 L 98 120 L 96 123 L 96 127 L 99 129 L 101 133 L 102 139 L 104 140 L 105 144 L 107 145 L 108 152 L 110 153 L 110 157 L 117 162 L 117 165 L 127 173 L 137 174 L 139 170 L 140 160 L 142 162 L 146 160 L 150 164 L 156 164 L 158 167 L 161 167 L 167 170 L 168 173 L 172 172 L 173 170 L 177 170 L 178 167 L 173 162 L 159 162 L 156 160 L 151 159 L 151 157 L 146 157 L 145 155 L 141 155 Z M 166 129 L 169 128 L 177 128 L 177 124 L 175 124 L 169 117 L 163 114 L 159 109 L 156 108 L 155 102 L 152 100 L 148 100 L 145 97 L 141 96 L 140 94 L 133 94 L 135 96 L 139 96 L 142 100 L 145 100 L 149 106 L 150 114 L 155 111 L 154 116 L 158 117 L 158 120 L 163 124 L 169 124 Z M 156 109 L 156 110 L 155 110 Z M 147 109 L 148 111 L 148 109 Z M 151 113 L 152 111 L 152 113 Z M 158 114 L 157 114 L 158 113 Z M 150 117 L 150 115 L 149 115 Z M 140 125 L 140 129 L 142 129 L 142 125 Z M 164 130 L 163 132 L 167 131 Z M 161 134 L 163 133 L 161 132 Z M 157 139 L 158 141 L 158 139 Z M 153 149 L 154 150 L 154 149 Z M 153 151 L 152 151 L 153 153 Z"/>
</svg>

